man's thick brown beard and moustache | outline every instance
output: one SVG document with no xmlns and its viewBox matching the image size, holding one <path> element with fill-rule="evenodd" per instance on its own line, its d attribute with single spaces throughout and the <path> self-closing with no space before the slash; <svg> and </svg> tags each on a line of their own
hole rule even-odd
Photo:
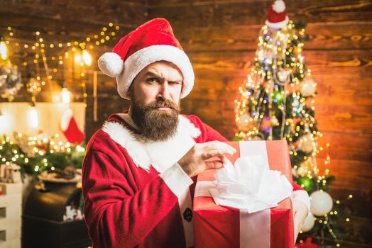
<svg viewBox="0 0 372 248">
<path fill-rule="evenodd" d="M 160 106 L 169 109 L 158 110 Z M 163 141 L 173 137 L 177 133 L 179 113 L 179 106 L 163 98 L 158 98 L 149 105 L 142 105 L 136 101 L 131 103 L 131 117 L 146 140 Z"/>
</svg>

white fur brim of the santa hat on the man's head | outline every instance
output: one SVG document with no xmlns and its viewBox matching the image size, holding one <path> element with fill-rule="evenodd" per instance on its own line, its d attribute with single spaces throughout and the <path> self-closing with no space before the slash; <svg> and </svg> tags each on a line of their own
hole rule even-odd
<svg viewBox="0 0 372 248">
<path fill-rule="evenodd" d="M 128 89 L 131 86 L 133 79 L 139 72 L 148 64 L 157 61 L 168 61 L 180 69 L 183 76 L 183 84 L 181 91 L 181 98 L 187 96 L 194 86 L 194 71 L 189 57 L 177 47 L 173 45 L 151 45 L 133 53 L 124 62 L 124 70 L 119 77 L 116 77 L 118 83 L 119 95 L 123 98 L 129 99 Z"/>
</svg>

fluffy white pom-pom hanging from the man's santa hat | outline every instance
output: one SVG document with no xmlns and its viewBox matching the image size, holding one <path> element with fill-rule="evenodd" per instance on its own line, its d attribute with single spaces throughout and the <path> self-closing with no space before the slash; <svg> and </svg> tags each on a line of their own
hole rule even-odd
<svg viewBox="0 0 372 248">
<path fill-rule="evenodd" d="M 99 57 L 98 67 L 109 77 L 118 77 L 123 71 L 124 62 L 116 52 L 106 52 Z"/>
</svg>

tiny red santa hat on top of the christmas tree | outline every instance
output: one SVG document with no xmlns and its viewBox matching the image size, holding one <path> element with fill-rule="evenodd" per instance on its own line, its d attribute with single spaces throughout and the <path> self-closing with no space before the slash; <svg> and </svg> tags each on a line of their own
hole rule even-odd
<svg viewBox="0 0 372 248">
<path fill-rule="evenodd" d="M 270 6 L 268 10 L 268 18 L 266 19 L 266 25 L 270 28 L 283 28 L 287 25 L 289 18 L 285 15 L 285 4 L 283 0 L 276 0 L 274 4 Z"/>
</svg>

